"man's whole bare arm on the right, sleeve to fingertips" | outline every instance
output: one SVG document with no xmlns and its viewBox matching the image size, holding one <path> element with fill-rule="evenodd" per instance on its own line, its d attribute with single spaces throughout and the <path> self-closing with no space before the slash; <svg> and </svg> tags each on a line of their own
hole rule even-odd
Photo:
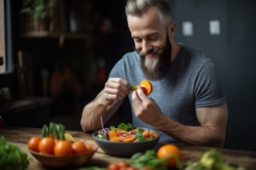
<svg viewBox="0 0 256 170">
<path fill-rule="evenodd" d="M 138 118 L 188 144 L 223 146 L 228 108 L 226 104 L 196 109 L 201 126 L 186 126 L 164 115 L 141 89 L 132 93 L 132 106 Z M 158 121 L 155 121 L 158 120 Z"/>
</svg>

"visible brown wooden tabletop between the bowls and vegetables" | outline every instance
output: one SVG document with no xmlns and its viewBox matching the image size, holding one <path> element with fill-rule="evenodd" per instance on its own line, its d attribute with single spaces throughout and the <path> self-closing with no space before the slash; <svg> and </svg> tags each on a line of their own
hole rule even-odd
<svg viewBox="0 0 256 170">
<path fill-rule="evenodd" d="M 88 139 L 94 142 L 94 139 L 92 139 L 90 133 L 83 133 L 81 131 L 67 131 L 67 133 L 71 133 L 74 138 Z M 19 146 L 21 150 L 24 150 L 28 154 L 29 158 L 31 158 L 30 166 L 28 169 L 47 169 L 47 167 L 43 167 L 37 160 L 35 160 L 26 148 L 28 139 L 30 139 L 32 136 L 41 135 L 40 128 L 9 127 L 7 129 L 1 130 L 0 135 L 4 136 L 8 142 Z M 194 145 L 181 145 L 179 147 L 183 152 L 185 160 L 191 161 L 197 160 L 204 151 L 212 149 L 211 147 Z M 230 163 L 236 163 L 237 165 L 245 167 L 247 170 L 254 170 L 256 167 L 256 152 L 227 149 L 217 150 L 219 150 L 224 156 L 224 159 Z M 110 163 L 124 161 L 125 159 L 126 158 L 123 157 L 108 156 L 99 148 L 96 151 L 96 154 L 83 167 L 107 167 Z"/>
</svg>

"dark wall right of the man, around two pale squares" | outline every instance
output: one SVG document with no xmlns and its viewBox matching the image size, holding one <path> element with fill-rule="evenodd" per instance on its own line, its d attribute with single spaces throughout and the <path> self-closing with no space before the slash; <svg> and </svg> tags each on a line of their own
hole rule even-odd
<svg viewBox="0 0 256 170">
<path fill-rule="evenodd" d="M 200 49 L 218 65 L 229 105 L 225 147 L 256 150 L 256 2 L 253 0 L 173 0 L 177 41 Z M 219 20 L 220 35 L 210 35 L 209 20 Z M 182 22 L 194 35 L 184 37 Z"/>
</svg>

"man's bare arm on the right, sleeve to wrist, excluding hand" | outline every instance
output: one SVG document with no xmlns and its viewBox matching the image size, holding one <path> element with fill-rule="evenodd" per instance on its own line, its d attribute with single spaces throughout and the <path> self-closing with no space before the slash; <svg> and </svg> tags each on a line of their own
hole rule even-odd
<svg viewBox="0 0 256 170">
<path fill-rule="evenodd" d="M 197 108 L 196 116 L 201 124 L 199 127 L 185 126 L 170 118 L 157 127 L 185 143 L 223 147 L 228 118 L 227 105 Z"/>
</svg>

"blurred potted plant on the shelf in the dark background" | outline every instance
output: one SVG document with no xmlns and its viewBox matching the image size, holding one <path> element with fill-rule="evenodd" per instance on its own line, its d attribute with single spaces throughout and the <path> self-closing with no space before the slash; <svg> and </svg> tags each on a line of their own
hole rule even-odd
<svg viewBox="0 0 256 170">
<path fill-rule="evenodd" d="M 56 0 L 23 0 L 21 14 L 26 14 L 26 32 L 38 33 L 52 31 L 49 26 L 53 20 Z"/>
</svg>

